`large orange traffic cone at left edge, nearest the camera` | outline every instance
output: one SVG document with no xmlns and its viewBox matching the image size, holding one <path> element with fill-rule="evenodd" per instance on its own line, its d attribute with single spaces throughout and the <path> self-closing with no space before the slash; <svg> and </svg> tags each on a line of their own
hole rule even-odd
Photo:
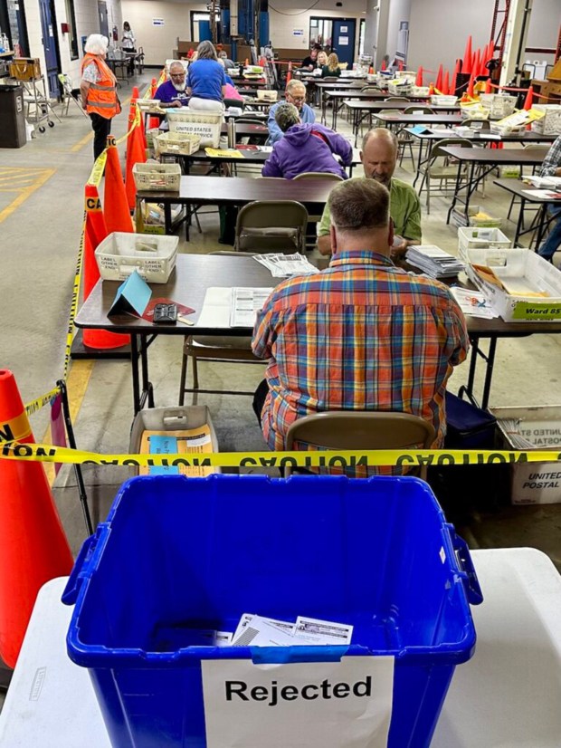
<svg viewBox="0 0 561 748">
<path fill-rule="evenodd" d="M 34 444 L 14 374 L 0 369 L 0 441 L 14 440 Z M 14 667 L 37 593 L 73 561 L 41 463 L 0 459 L 0 496 L 0 656 Z"/>
</svg>

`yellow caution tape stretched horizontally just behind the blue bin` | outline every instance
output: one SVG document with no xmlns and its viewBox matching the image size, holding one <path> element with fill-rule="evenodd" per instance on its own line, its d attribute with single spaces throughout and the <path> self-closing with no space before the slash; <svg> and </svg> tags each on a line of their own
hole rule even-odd
<svg viewBox="0 0 561 748">
<path fill-rule="evenodd" d="M 0 458 L 32 462 L 64 463 L 67 465 L 123 465 L 174 467 L 366 467 L 396 465 L 398 467 L 430 465 L 516 465 L 528 462 L 558 462 L 561 453 L 532 451 L 492 451 L 477 449 L 371 449 L 309 452 L 213 452 L 204 455 L 100 455 L 61 446 L 19 444 L 2 441 Z"/>
</svg>

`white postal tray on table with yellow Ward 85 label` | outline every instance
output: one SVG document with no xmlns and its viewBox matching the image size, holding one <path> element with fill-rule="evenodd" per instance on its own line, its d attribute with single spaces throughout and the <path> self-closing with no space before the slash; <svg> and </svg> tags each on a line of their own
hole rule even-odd
<svg viewBox="0 0 561 748">
<path fill-rule="evenodd" d="M 467 249 L 466 273 L 504 321 L 561 320 L 561 272 L 528 249 Z"/>
</svg>

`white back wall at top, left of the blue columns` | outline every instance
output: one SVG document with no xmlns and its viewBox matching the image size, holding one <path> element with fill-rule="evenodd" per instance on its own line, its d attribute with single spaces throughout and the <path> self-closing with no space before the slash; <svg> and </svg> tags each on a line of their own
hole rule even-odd
<svg viewBox="0 0 561 748">
<path fill-rule="evenodd" d="M 206 13 L 205 4 L 169 3 L 159 0 L 122 0 L 123 20 L 131 25 L 137 44 L 144 47 L 147 65 L 164 65 L 177 48 L 177 37 L 191 41 L 191 11 Z M 154 18 L 163 18 L 155 26 Z"/>
</svg>

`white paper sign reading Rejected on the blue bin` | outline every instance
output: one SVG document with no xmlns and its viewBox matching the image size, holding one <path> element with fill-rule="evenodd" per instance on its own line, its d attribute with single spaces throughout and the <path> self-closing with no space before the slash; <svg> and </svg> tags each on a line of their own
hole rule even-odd
<svg viewBox="0 0 561 748">
<path fill-rule="evenodd" d="M 386 748 L 394 657 L 203 660 L 207 748 Z"/>
</svg>

